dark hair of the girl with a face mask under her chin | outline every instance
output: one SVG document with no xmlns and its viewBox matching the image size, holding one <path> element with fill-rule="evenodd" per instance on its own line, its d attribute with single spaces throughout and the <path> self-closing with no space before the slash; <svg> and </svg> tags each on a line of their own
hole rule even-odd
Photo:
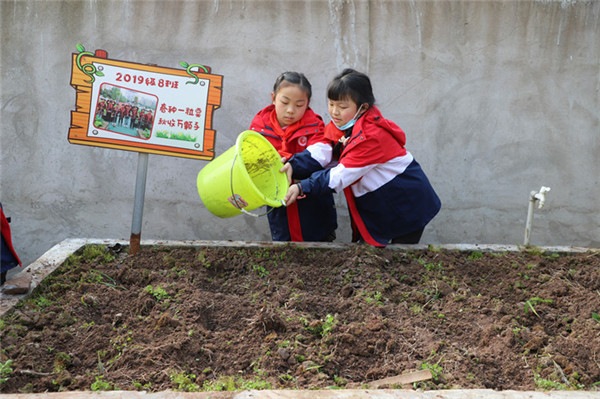
<svg viewBox="0 0 600 399">
<path fill-rule="evenodd" d="M 369 104 L 371 107 L 375 104 L 371 80 L 364 73 L 351 68 L 344 69 L 342 73 L 333 78 L 327 86 L 327 98 L 333 101 L 350 98 L 359 106 Z"/>
</svg>

